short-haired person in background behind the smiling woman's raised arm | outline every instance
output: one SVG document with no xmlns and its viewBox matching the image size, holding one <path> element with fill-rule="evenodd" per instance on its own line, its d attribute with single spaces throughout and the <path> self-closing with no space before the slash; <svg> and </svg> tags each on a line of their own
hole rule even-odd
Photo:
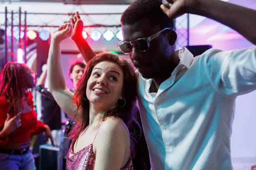
<svg viewBox="0 0 256 170">
<path fill-rule="evenodd" d="M 69 77 L 73 83 L 73 88 L 70 89 L 72 93 L 75 92 L 77 83 L 84 72 L 84 68 L 85 64 L 80 60 L 76 60 L 70 65 Z M 45 86 L 46 77 L 47 65 L 45 64 L 42 67 L 42 73 L 37 81 L 36 89 L 39 91 L 39 93 L 41 93 L 42 96 L 42 117 L 44 123 L 48 124 L 50 127 L 52 127 L 52 129 L 61 129 L 62 120 L 65 120 L 63 122 L 65 125 L 63 128 L 63 136 L 59 135 L 59 132 L 57 131 L 54 137 L 55 141 L 58 141 L 57 143 L 60 147 L 60 154 L 63 157 L 63 165 L 65 165 L 66 155 L 71 144 L 71 139 L 68 138 L 68 134 L 74 126 L 75 121 L 73 121 L 65 113 L 61 115 L 61 112 L 63 111 L 55 101 L 53 95 L 50 93 L 50 91 L 48 91 L 48 85 Z"/>
</svg>

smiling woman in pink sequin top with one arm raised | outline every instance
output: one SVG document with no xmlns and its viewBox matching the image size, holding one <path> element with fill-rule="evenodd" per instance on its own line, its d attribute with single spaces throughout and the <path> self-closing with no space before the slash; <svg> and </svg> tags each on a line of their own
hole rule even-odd
<svg viewBox="0 0 256 170">
<path fill-rule="evenodd" d="M 65 86 L 60 60 L 60 42 L 73 28 L 68 23 L 63 28 L 52 36 L 47 78 L 59 106 L 77 122 L 66 169 L 133 170 L 135 151 L 128 129 L 137 124 L 135 72 L 117 55 L 100 53 L 88 62 L 73 96 Z"/>
</svg>

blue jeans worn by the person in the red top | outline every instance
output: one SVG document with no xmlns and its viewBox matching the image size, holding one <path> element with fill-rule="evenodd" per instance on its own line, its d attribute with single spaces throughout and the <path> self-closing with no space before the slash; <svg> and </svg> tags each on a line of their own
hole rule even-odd
<svg viewBox="0 0 256 170">
<path fill-rule="evenodd" d="M 36 170 L 35 160 L 31 149 L 25 154 L 0 153 L 1 170 Z"/>
</svg>

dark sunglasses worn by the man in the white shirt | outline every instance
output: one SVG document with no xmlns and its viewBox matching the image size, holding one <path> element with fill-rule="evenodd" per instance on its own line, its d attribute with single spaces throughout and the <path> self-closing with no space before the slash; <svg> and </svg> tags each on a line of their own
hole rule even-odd
<svg viewBox="0 0 256 170">
<path fill-rule="evenodd" d="M 172 30 L 171 28 L 164 28 L 161 31 L 157 32 L 156 34 L 153 34 L 149 37 L 145 38 L 138 38 L 133 41 L 120 41 L 118 42 L 118 48 L 124 53 L 129 54 L 132 52 L 133 48 L 135 48 L 138 51 L 145 52 L 150 47 L 150 41 L 157 38 L 159 34 L 164 32 L 165 30 Z"/>
</svg>

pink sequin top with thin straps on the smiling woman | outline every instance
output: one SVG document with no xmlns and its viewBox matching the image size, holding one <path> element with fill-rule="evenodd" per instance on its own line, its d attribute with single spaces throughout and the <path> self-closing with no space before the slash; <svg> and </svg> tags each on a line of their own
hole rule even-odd
<svg viewBox="0 0 256 170">
<path fill-rule="evenodd" d="M 96 137 L 96 136 L 95 136 Z M 95 158 L 93 153 L 93 143 L 74 153 L 74 142 L 72 141 L 67 153 L 66 170 L 94 170 Z M 127 164 L 121 170 L 133 170 L 133 162 L 130 157 Z"/>
</svg>

